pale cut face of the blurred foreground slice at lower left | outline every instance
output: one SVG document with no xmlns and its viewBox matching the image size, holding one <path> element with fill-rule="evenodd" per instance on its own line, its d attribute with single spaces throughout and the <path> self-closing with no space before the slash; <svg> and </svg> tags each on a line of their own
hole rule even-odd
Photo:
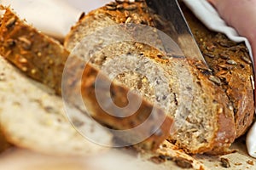
<svg viewBox="0 0 256 170">
<path fill-rule="evenodd" d="M 9 17 L 11 20 L 7 27 L 16 20 L 15 15 L 10 11 Z M 23 36 L 27 36 L 26 33 Z M 3 49 L 7 43 L 3 44 L 3 37 L 1 38 Z M 22 44 L 28 42 L 23 40 Z M 17 53 L 15 56 L 22 55 Z M 19 59 L 24 64 L 25 60 Z M 104 144 L 112 144 L 111 133 L 101 131 L 90 118 L 84 116 L 70 116 L 68 119 L 64 111 L 67 108 L 55 92 L 41 83 L 27 79 L 2 56 L 0 56 L 0 75 L 0 129 L 9 143 L 53 155 L 91 155 L 107 149 L 85 139 L 69 122 L 70 119 L 73 122 L 79 120 L 80 129 L 88 134 L 94 135 L 93 132 L 97 132 L 94 136 Z M 2 144 L 6 145 L 6 142 L 1 143 L 1 148 L 4 146 Z"/>
</svg>

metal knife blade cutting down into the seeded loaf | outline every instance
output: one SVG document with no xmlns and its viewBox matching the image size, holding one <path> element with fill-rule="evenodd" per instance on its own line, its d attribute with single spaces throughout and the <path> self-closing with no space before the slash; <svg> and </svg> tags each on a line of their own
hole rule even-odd
<svg viewBox="0 0 256 170">
<path fill-rule="evenodd" d="M 146 3 L 154 12 L 156 28 L 172 37 L 186 58 L 201 60 L 207 66 L 177 0 L 146 0 Z"/>
</svg>

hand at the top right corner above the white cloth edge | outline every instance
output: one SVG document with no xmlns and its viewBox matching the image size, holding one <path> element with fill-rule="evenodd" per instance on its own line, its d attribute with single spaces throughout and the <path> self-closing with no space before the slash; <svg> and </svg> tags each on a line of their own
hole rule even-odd
<svg viewBox="0 0 256 170">
<path fill-rule="evenodd" d="M 256 65 L 256 0 L 207 0 L 218 10 L 226 23 L 247 37 L 253 48 Z"/>
</svg>

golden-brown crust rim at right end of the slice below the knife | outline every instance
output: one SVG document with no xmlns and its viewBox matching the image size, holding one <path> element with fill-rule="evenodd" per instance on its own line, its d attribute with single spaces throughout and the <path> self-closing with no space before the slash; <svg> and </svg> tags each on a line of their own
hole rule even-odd
<svg viewBox="0 0 256 170">
<path fill-rule="evenodd" d="M 191 65 L 191 73 L 195 75 L 195 77 L 200 80 L 201 88 L 211 88 L 214 87 L 212 93 L 208 94 L 208 98 L 212 99 L 212 105 L 214 103 L 218 103 L 215 108 L 215 119 L 217 123 L 214 127 L 214 136 L 212 140 L 207 141 L 207 144 L 200 147 L 197 150 L 193 150 L 189 146 L 184 147 L 184 145 L 180 141 L 175 141 L 175 138 L 172 136 L 169 137 L 178 147 L 182 148 L 186 153 L 189 154 L 202 154 L 207 153 L 210 155 L 224 155 L 232 152 L 230 150 L 230 145 L 236 139 L 236 128 L 234 122 L 233 111 L 229 107 L 230 101 L 224 95 L 223 89 L 218 86 L 216 82 L 209 81 L 209 77 L 211 77 L 211 72 L 201 70 L 202 64 L 199 61 L 189 60 L 189 65 Z M 220 102 L 221 101 L 221 102 Z M 212 120 L 212 122 L 214 122 Z M 229 126 L 227 126 L 229 124 Z M 214 124 L 212 124 L 214 126 Z M 173 140 L 174 139 L 174 140 Z"/>
</svg>

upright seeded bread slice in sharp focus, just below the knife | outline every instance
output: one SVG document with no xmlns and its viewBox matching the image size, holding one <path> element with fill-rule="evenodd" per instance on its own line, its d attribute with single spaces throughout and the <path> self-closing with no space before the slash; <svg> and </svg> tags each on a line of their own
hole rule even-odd
<svg viewBox="0 0 256 170">
<path fill-rule="evenodd" d="M 123 38 L 118 36 L 122 30 L 116 30 L 115 33 L 111 31 L 115 25 L 122 23 L 154 26 L 153 17 L 156 16 L 150 13 L 143 1 L 109 3 L 84 15 L 67 35 L 65 47 L 74 54 L 80 54 L 86 61 L 89 60 L 91 65 L 105 72 L 108 77 L 114 77 L 114 81 L 136 89 L 144 99 L 156 103 L 167 115 L 172 116 L 176 123 L 169 139 L 180 148 L 194 154 L 224 153 L 236 138 L 236 129 L 233 108 L 218 85 L 218 78 L 214 77 L 211 71 L 207 71 L 200 61 L 175 55 L 170 57 L 163 53 L 160 49 L 164 48 L 164 44 L 161 44 L 160 38 L 155 37 L 152 32 L 145 31 L 133 35 L 130 32 L 124 34 Z M 123 26 L 122 29 L 128 29 L 127 27 Z M 99 33 L 101 30 L 106 31 L 105 35 Z M 91 35 L 95 38 L 90 39 Z M 119 42 L 104 46 L 104 42 L 108 42 L 108 38 L 105 38 L 108 35 L 119 37 Z M 157 46 L 136 42 L 136 35 L 145 35 L 146 39 L 153 40 L 151 44 Z M 97 38 L 102 36 L 105 38 L 102 38 L 103 42 L 99 40 L 101 38 Z M 97 41 L 99 44 L 103 43 L 104 48 L 96 46 L 90 51 L 90 56 L 83 56 L 84 48 L 79 52 L 81 44 L 90 46 L 89 44 L 95 44 Z M 86 73 L 86 77 L 91 79 L 95 76 L 91 76 L 90 72 Z M 90 88 L 92 82 L 85 87 Z M 157 91 L 154 91 L 154 88 Z M 88 93 L 87 99 L 90 95 L 95 94 Z M 91 110 L 96 114 L 100 112 L 98 106 Z M 229 126 L 226 126 L 227 124 Z"/>
</svg>

